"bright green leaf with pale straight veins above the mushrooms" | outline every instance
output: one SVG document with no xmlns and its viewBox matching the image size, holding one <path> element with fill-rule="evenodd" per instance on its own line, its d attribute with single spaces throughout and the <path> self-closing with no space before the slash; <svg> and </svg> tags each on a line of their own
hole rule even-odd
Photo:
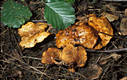
<svg viewBox="0 0 127 80">
<path fill-rule="evenodd" d="M 74 8 L 64 1 L 46 3 L 44 16 L 57 29 L 65 29 L 75 22 Z"/>
</svg>

